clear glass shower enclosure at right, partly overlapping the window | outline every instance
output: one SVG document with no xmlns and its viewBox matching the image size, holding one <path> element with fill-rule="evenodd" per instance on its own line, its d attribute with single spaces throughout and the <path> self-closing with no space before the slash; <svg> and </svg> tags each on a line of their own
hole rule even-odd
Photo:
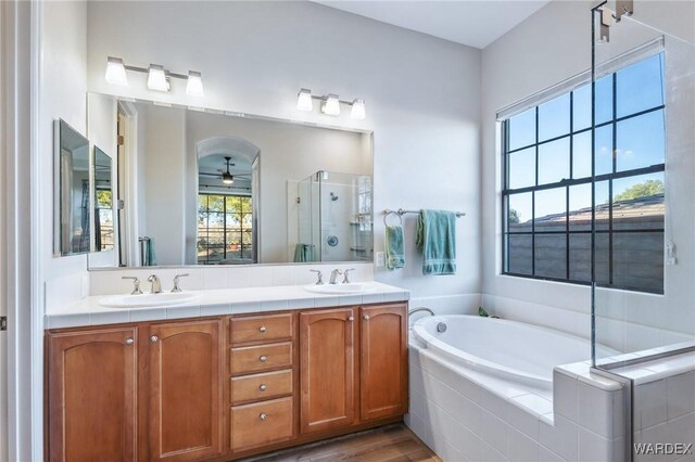
<svg viewBox="0 0 695 462">
<path fill-rule="evenodd" d="M 624 460 L 693 460 L 695 44 L 641 8 L 592 11 L 592 365 L 623 386 Z"/>
</svg>

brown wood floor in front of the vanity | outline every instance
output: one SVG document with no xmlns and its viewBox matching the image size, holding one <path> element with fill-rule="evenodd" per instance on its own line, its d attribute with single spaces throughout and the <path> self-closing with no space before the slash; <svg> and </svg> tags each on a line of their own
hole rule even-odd
<svg viewBox="0 0 695 462">
<path fill-rule="evenodd" d="M 396 424 L 247 459 L 249 461 L 441 462 L 441 459 L 405 425 Z"/>
</svg>

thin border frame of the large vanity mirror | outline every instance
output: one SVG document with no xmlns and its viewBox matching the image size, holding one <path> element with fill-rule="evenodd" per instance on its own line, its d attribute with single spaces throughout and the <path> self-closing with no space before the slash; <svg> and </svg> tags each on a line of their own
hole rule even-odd
<svg viewBox="0 0 695 462">
<path fill-rule="evenodd" d="M 161 100 L 155 100 L 155 99 L 142 99 L 142 98 L 132 98 L 132 97 L 125 97 L 125 95 L 118 95 L 118 94 L 113 94 L 113 93 L 102 93 L 102 92 L 94 92 L 94 91 L 90 91 L 87 92 L 87 94 L 99 94 L 102 97 L 109 97 L 109 98 L 113 98 L 116 102 L 123 101 L 123 102 L 127 102 L 127 103 L 140 103 L 140 104 L 153 104 L 153 105 L 157 105 L 157 106 L 166 106 L 166 107 L 173 107 L 173 108 L 180 108 L 180 110 L 188 110 L 188 111 L 197 111 L 197 112 L 203 112 L 203 113 L 207 113 L 207 114 L 214 114 L 214 115 L 226 115 L 226 116 L 230 116 L 230 117 L 240 117 L 240 118 L 250 118 L 250 119 L 256 119 L 256 120 L 267 120 L 267 121 L 276 121 L 276 123 L 283 123 L 283 124 L 292 124 L 292 125 L 300 125 L 300 126 L 304 126 L 304 127 L 315 127 L 315 128 L 324 128 L 324 129 L 328 129 L 328 130 L 338 130 L 338 131 L 349 131 L 349 132 L 353 132 L 353 133 L 362 133 L 362 134 L 367 134 L 369 136 L 369 140 L 370 140 L 370 145 L 371 145 L 371 179 L 372 179 L 372 190 L 371 190 L 371 203 L 372 203 L 372 210 L 371 210 L 371 222 L 372 222 L 372 233 L 371 233 L 371 243 L 372 243 L 372 248 L 374 248 L 374 242 L 375 242 L 375 233 L 374 233 L 374 223 L 375 223 L 375 215 L 376 215 L 376 209 L 374 209 L 374 167 L 375 167 L 375 144 L 374 144 L 374 130 L 371 129 L 365 129 L 365 128 L 357 128 L 357 127 L 349 127 L 349 126 L 340 126 L 340 125 L 331 125 L 331 124 L 319 124 L 319 123 L 314 123 L 314 121 L 308 121 L 308 120 L 302 120 L 302 119 L 292 119 L 292 118 L 282 118 L 282 117 L 273 117 L 273 116 L 265 116 L 265 115 L 261 115 L 261 114 L 252 114 L 252 113 L 242 113 L 242 112 L 236 112 L 236 111 L 229 111 L 229 110 L 220 110 L 220 108 L 214 108 L 214 107 L 204 107 L 204 106 L 192 106 L 192 105 L 186 105 L 186 104 L 179 104 L 179 103 L 172 103 L 168 101 L 161 101 Z M 88 133 L 89 133 L 89 127 L 88 127 Z M 117 168 L 117 166 L 115 167 Z M 90 253 L 91 255 L 92 253 Z M 96 253 L 98 254 L 98 253 Z M 270 264 L 248 264 L 248 265 L 235 265 L 235 266 L 219 266 L 219 265 L 211 265 L 211 266 L 204 266 L 204 265 L 155 265 L 155 266 L 151 266 L 151 267 L 118 267 L 118 266 L 113 266 L 113 267 L 90 267 L 89 266 L 89 259 L 87 262 L 87 270 L 88 271 L 114 271 L 114 270 L 123 270 L 124 268 L 126 269 L 132 269 L 132 270 L 140 270 L 143 268 L 151 268 L 151 269 L 173 269 L 173 268 L 184 268 L 184 269 L 203 269 L 203 268 L 237 268 L 237 267 L 243 267 L 243 268 L 255 268 L 255 267 L 274 267 L 274 266 L 316 266 L 316 265 L 327 265 L 327 264 L 331 264 L 331 265 L 372 265 L 374 260 L 345 260 L 345 261 L 306 261 L 306 262 L 293 262 L 293 261 L 286 261 L 286 262 L 270 262 Z"/>
</svg>

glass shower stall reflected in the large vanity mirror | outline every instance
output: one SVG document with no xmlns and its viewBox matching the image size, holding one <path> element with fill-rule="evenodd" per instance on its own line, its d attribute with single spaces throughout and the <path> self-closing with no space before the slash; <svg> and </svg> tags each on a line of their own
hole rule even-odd
<svg viewBox="0 0 695 462">
<path fill-rule="evenodd" d="M 371 261 L 371 177 L 319 170 L 296 187 L 294 261 Z"/>
</svg>

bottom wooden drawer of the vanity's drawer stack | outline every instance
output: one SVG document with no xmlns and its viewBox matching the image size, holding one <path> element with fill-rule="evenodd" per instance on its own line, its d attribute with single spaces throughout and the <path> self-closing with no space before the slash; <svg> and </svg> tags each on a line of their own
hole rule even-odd
<svg viewBox="0 0 695 462">
<path fill-rule="evenodd" d="M 291 397 L 231 408 L 231 447 L 236 452 L 291 437 Z"/>
</svg>

